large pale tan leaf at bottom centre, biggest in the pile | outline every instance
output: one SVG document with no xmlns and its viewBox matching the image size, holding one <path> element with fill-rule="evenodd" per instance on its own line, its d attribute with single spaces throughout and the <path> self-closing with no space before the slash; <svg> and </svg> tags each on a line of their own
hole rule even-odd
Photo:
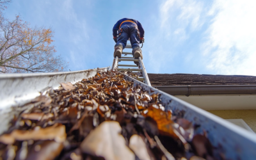
<svg viewBox="0 0 256 160">
<path fill-rule="evenodd" d="M 135 159 L 120 131 L 118 122 L 102 122 L 84 139 L 81 149 L 86 154 L 101 156 L 106 160 Z"/>
</svg>

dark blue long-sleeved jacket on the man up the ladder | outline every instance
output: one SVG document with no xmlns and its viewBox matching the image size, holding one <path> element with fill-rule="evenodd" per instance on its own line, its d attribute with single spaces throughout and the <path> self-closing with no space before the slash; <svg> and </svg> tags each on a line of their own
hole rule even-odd
<svg viewBox="0 0 256 160">
<path fill-rule="evenodd" d="M 117 31 L 124 25 L 136 26 L 137 29 L 140 31 L 140 39 L 142 40 L 144 37 L 144 29 L 141 26 L 140 22 L 135 19 L 120 19 L 116 22 L 115 26 L 113 27 L 113 36 L 116 38 Z"/>
</svg>

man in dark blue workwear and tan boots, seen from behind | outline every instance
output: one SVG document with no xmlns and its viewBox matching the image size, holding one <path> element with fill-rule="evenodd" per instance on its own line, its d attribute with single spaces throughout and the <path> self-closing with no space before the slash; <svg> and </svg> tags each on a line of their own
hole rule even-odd
<svg viewBox="0 0 256 160">
<path fill-rule="evenodd" d="M 130 38 L 133 57 L 142 59 L 140 44 L 144 42 L 144 29 L 138 20 L 127 18 L 118 20 L 113 27 L 113 37 L 116 42 L 114 58 L 116 56 L 121 58 L 122 51 Z"/>
</svg>

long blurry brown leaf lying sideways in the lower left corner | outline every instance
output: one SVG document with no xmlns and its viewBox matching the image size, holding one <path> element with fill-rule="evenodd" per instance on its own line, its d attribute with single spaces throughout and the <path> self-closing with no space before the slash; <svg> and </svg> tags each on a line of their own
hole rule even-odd
<svg viewBox="0 0 256 160">
<path fill-rule="evenodd" d="M 57 142 L 63 142 L 66 140 L 66 136 L 65 125 L 54 124 L 51 127 L 36 127 L 34 130 L 29 131 L 15 129 L 10 134 L 0 136 L 0 142 L 6 145 L 13 144 L 15 140 L 55 140 Z"/>
</svg>

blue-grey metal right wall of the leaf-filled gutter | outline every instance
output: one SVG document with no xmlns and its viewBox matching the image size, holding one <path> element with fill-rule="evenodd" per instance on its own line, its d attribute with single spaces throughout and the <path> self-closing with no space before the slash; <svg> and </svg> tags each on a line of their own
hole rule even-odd
<svg viewBox="0 0 256 160">
<path fill-rule="evenodd" d="M 227 122 L 216 115 L 212 115 L 184 100 L 180 100 L 173 95 L 141 83 L 132 77 L 126 76 L 125 78 L 129 81 L 134 81 L 134 85 L 140 85 L 150 95 L 159 94 L 159 99 L 163 102 L 163 106 L 166 110 L 172 109 L 173 116 L 182 114 L 183 118 L 191 121 L 193 125 L 199 125 L 195 130 L 195 134 L 207 132 L 207 137 L 212 145 L 216 147 L 214 153 L 222 152 L 226 159 L 255 160 L 256 134 Z M 188 88 L 188 86 L 185 87 Z M 186 91 L 188 92 L 188 89 Z M 218 159 L 221 159 L 221 157 Z"/>
</svg>

